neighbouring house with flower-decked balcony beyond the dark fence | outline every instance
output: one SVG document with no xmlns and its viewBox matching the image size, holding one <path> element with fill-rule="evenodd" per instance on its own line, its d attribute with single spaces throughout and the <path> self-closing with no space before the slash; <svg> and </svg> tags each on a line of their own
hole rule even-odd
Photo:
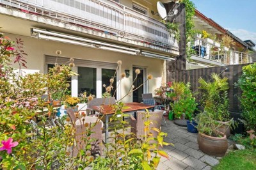
<svg viewBox="0 0 256 170">
<path fill-rule="evenodd" d="M 253 62 L 255 43 L 252 40 L 241 40 L 198 10 L 195 10 L 193 20 L 198 34 L 191 46 L 196 52 L 191 56 L 186 69 Z M 230 40 L 232 43 L 228 44 Z"/>
</svg>

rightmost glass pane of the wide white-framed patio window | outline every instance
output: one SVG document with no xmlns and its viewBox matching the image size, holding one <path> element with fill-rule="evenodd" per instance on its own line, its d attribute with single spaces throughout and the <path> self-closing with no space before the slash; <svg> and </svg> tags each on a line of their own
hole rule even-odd
<svg viewBox="0 0 256 170">
<path fill-rule="evenodd" d="M 106 86 L 109 86 L 110 84 L 109 80 L 114 77 L 115 72 L 116 70 L 102 68 L 102 85 L 106 84 Z M 112 86 L 113 86 L 113 89 L 111 90 L 111 97 L 113 97 L 116 91 L 116 76 Z M 102 86 L 102 93 L 105 93 L 105 92 L 106 92 L 106 89 Z M 114 97 L 116 98 L 116 93 Z"/>
</svg>

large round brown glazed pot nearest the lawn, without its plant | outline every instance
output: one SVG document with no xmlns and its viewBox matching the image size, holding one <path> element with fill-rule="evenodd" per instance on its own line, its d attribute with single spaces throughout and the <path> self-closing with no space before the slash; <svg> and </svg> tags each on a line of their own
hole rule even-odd
<svg viewBox="0 0 256 170">
<path fill-rule="evenodd" d="M 207 155 L 223 157 L 228 149 L 228 141 L 225 134 L 220 132 L 223 137 L 212 137 L 205 134 L 198 134 L 197 141 L 199 149 Z"/>
</svg>

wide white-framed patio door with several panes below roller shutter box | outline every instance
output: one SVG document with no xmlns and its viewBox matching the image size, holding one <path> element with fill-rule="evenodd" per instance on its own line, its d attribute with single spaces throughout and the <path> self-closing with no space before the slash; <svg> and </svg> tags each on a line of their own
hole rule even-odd
<svg viewBox="0 0 256 170">
<path fill-rule="evenodd" d="M 58 58 L 58 63 L 68 63 L 69 58 Z M 56 62 L 55 56 L 46 56 L 46 70 L 54 66 Z M 116 71 L 116 63 L 106 63 L 100 61 L 92 61 L 86 59 L 75 59 L 75 65 L 72 70 L 77 72 L 79 75 L 72 76 L 70 81 L 70 90 L 72 97 L 78 97 L 80 93 L 86 91 L 87 95 L 95 95 L 97 98 L 102 97 L 102 93 L 106 91 L 103 88 L 103 84 L 109 86 L 109 79 L 113 78 Z M 120 74 L 120 68 L 117 70 L 116 75 Z M 118 83 L 119 77 L 115 77 L 113 83 L 113 90 L 111 91 L 111 96 L 118 99 L 120 96 L 120 88 L 116 89 L 116 84 Z"/>
</svg>

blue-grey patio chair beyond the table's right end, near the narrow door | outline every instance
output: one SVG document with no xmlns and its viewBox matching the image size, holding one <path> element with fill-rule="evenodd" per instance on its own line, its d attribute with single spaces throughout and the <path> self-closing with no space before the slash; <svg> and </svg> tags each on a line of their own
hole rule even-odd
<svg viewBox="0 0 256 170">
<path fill-rule="evenodd" d="M 143 100 L 143 104 L 155 105 L 155 108 L 154 108 L 155 111 L 163 110 L 165 108 L 164 105 L 156 105 L 156 100 L 154 100 L 152 93 L 142 94 L 142 100 Z M 164 116 L 166 116 L 166 115 L 167 115 L 167 113 L 166 113 L 166 111 L 164 111 L 163 112 L 163 123 L 167 127 L 166 120 L 164 118 Z"/>
</svg>

